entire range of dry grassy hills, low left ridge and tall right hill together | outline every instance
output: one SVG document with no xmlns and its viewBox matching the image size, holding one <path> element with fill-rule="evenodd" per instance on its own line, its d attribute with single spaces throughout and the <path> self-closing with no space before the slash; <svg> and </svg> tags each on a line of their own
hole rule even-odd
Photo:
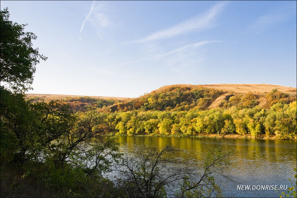
<svg viewBox="0 0 297 198">
<path fill-rule="evenodd" d="M 276 92 L 277 90 L 277 92 Z M 272 93 L 273 92 L 273 93 Z M 109 113 L 130 110 L 184 111 L 213 109 L 216 107 L 269 108 L 276 102 L 296 100 L 296 88 L 268 84 L 177 84 L 160 87 L 138 98 L 75 96 L 57 94 L 27 94 L 33 101 L 64 99 L 73 108 L 86 110 L 99 108 Z"/>
</svg>

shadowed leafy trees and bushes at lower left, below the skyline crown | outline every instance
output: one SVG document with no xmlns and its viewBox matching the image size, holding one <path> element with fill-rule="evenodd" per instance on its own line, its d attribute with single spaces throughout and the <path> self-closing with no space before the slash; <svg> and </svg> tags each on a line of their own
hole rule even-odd
<svg viewBox="0 0 297 198">
<path fill-rule="evenodd" d="M 121 158 L 115 138 L 102 137 L 109 131 L 94 111 L 74 114 L 61 101 L 33 104 L 1 87 L 1 163 L 59 196 L 101 197 L 116 191 L 102 177 Z"/>
</svg>

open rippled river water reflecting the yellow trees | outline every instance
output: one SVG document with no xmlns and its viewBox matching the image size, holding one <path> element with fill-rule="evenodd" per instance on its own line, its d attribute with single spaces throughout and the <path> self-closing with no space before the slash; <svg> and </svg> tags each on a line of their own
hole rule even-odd
<svg viewBox="0 0 297 198">
<path fill-rule="evenodd" d="M 182 151 L 172 155 L 189 167 L 200 170 L 207 149 L 233 148 L 232 167 L 227 172 L 236 182 L 226 182 L 226 197 L 279 197 L 275 190 L 238 190 L 238 185 L 288 185 L 294 179 L 297 146 L 295 140 L 218 139 L 187 137 L 119 137 L 121 152 L 132 155 L 140 146 L 172 145 Z"/>
</svg>

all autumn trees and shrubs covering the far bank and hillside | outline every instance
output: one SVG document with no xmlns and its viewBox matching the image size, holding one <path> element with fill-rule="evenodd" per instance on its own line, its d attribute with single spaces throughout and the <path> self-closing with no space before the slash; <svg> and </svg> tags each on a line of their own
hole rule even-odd
<svg viewBox="0 0 297 198">
<path fill-rule="evenodd" d="M 193 86 L 165 86 L 124 101 L 83 96 L 60 102 L 75 113 L 96 113 L 98 124 L 116 135 L 297 139 L 295 92 L 239 94 Z"/>
</svg>

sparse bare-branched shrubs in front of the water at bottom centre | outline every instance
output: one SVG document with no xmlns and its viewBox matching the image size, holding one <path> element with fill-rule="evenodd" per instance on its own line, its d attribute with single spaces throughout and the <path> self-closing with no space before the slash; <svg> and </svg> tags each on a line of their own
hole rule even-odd
<svg viewBox="0 0 297 198">
<path fill-rule="evenodd" d="M 170 159 L 168 154 L 178 150 L 143 146 L 135 157 L 124 158 L 115 170 L 119 172 L 116 183 L 127 197 L 220 197 L 222 189 L 214 175 L 228 178 L 224 170 L 229 165 L 231 151 L 221 148 L 210 150 L 202 174 Z"/>
</svg>

